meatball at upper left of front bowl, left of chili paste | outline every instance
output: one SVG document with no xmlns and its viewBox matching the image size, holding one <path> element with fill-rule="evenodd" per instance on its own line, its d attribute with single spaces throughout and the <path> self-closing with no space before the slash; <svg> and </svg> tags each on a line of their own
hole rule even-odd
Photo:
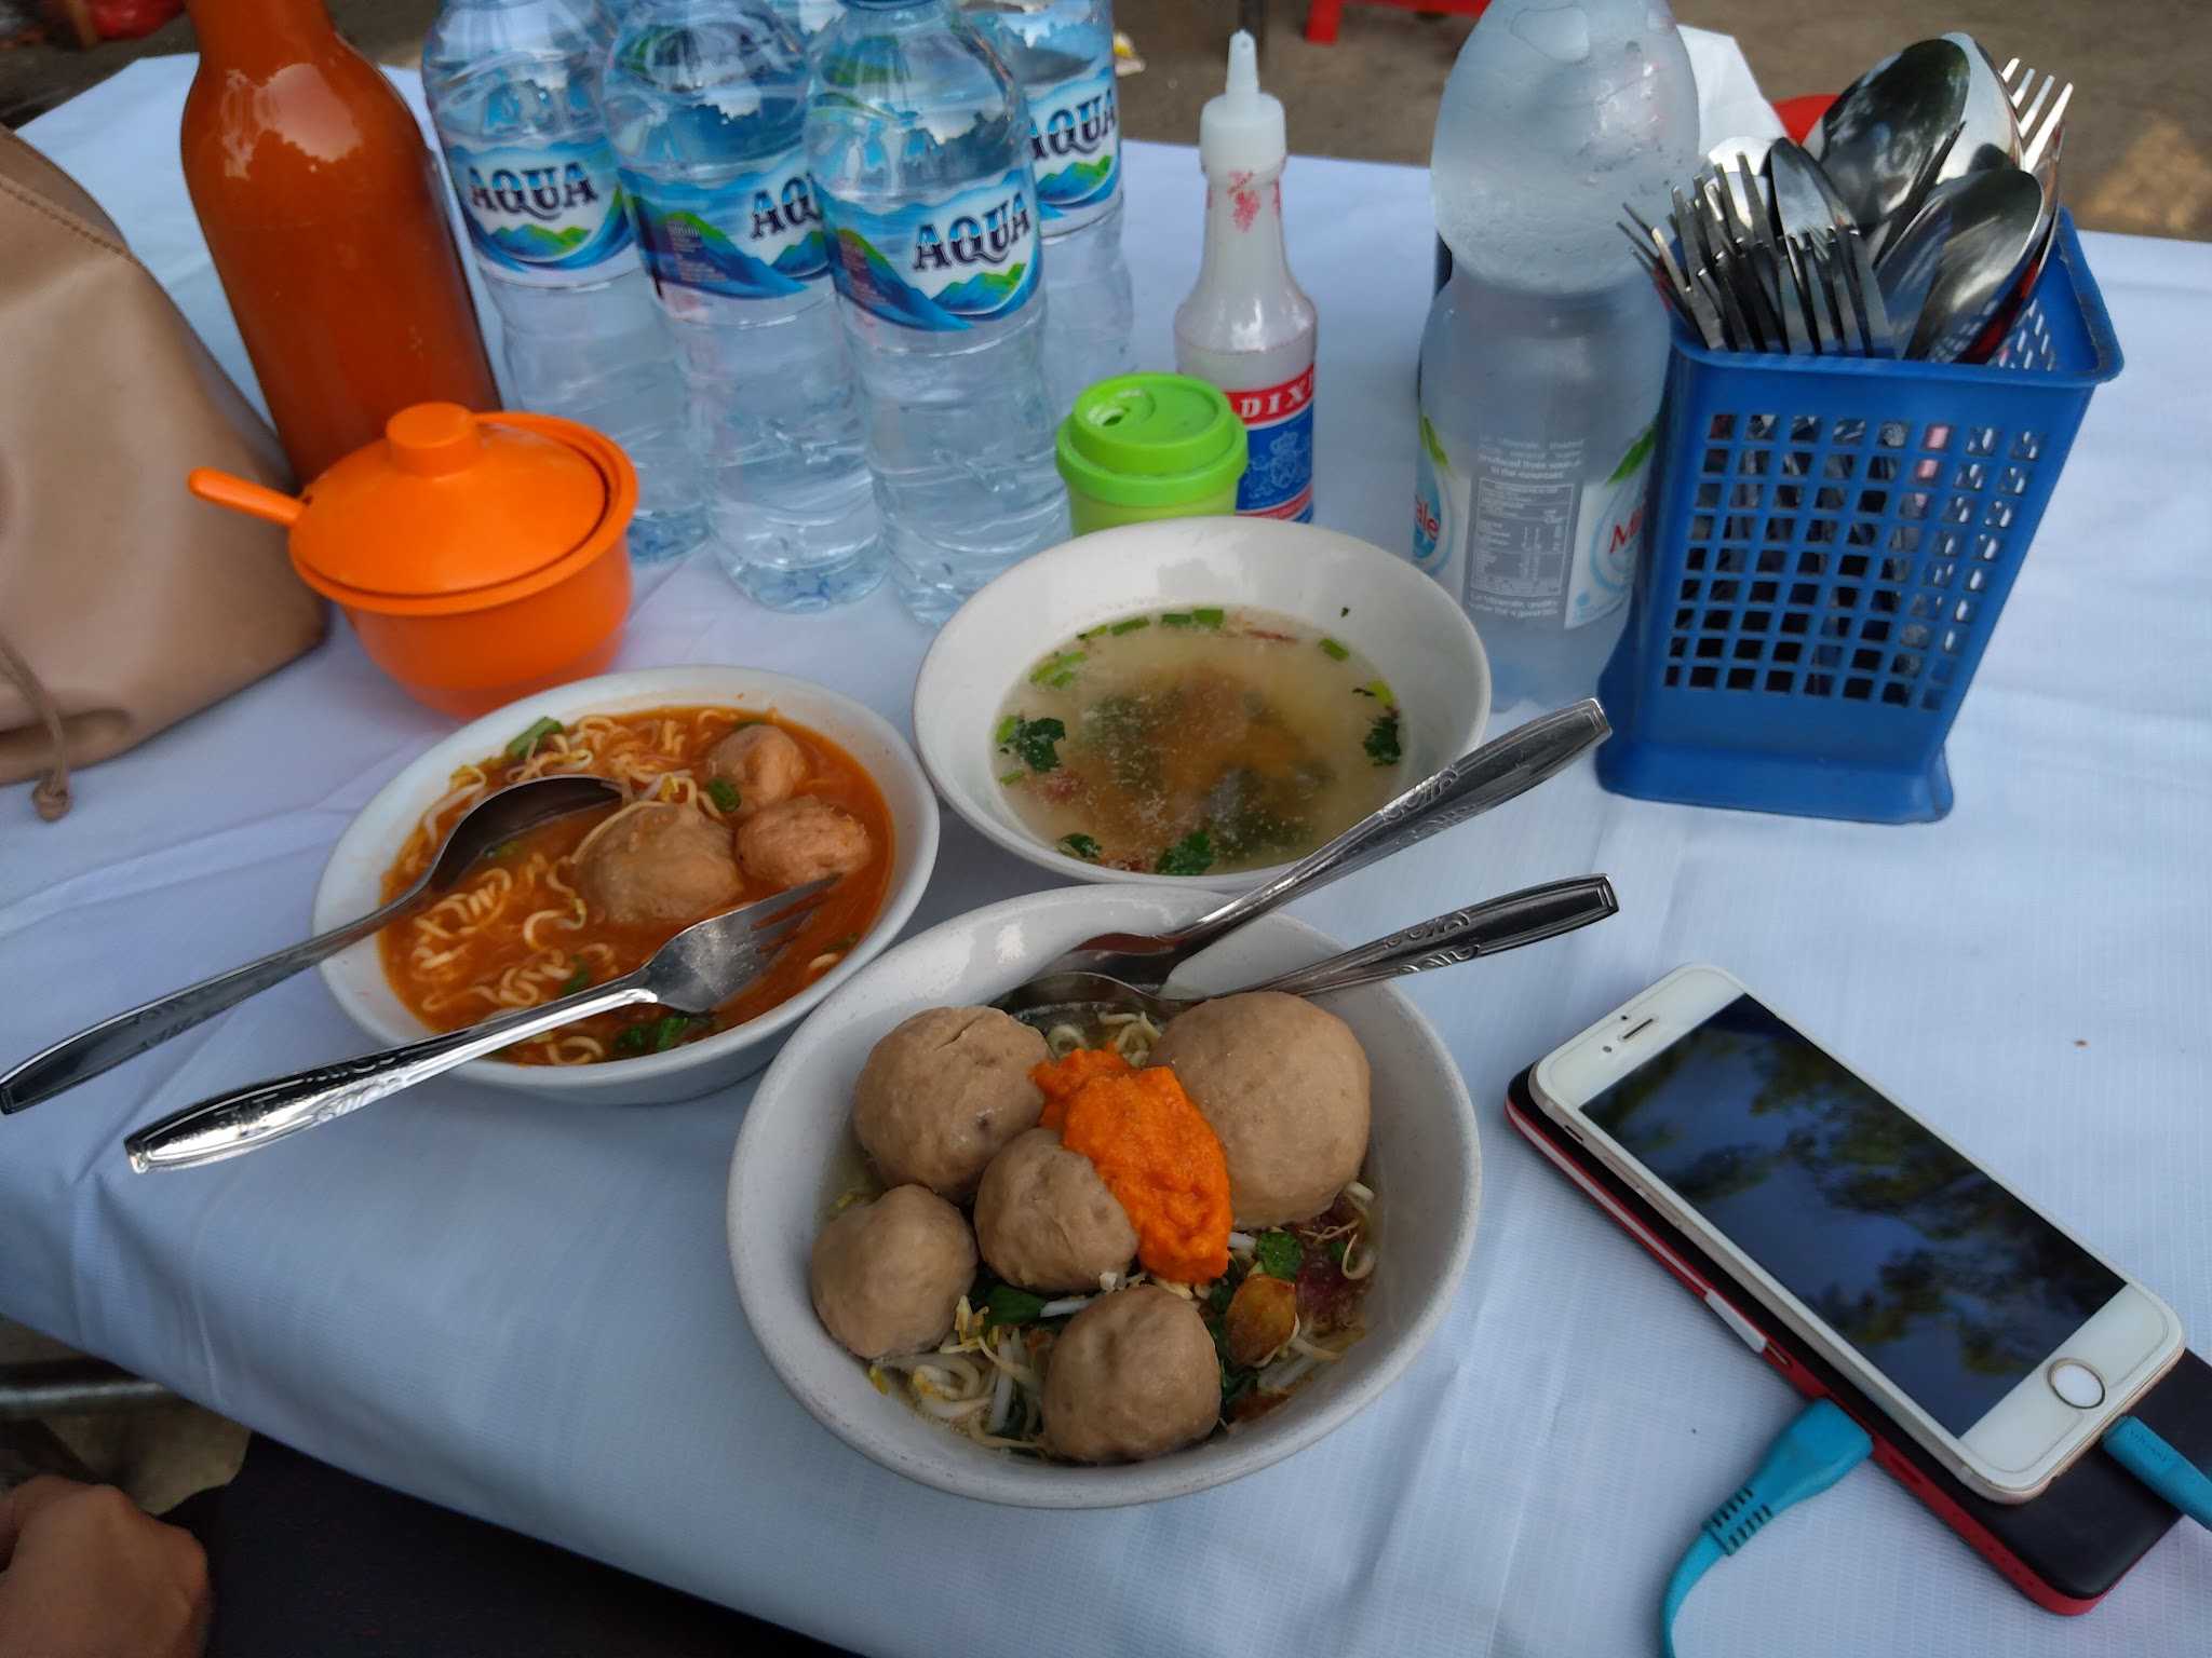
<svg viewBox="0 0 2212 1658">
<path fill-rule="evenodd" d="M 964 1203 L 991 1158 L 1044 1114 L 1029 1072 L 1044 1037 L 995 1008 L 929 1008 L 883 1041 L 852 1090 L 852 1127 L 885 1183 Z"/>
</svg>

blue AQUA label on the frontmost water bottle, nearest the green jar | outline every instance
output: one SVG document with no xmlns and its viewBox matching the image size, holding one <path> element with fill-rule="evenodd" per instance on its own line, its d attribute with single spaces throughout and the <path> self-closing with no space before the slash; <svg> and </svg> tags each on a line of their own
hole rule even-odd
<svg viewBox="0 0 2212 1658">
<path fill-rule="evenodd" d="M 951 332 L 998 323 L 1037 292 L 1029 168 L 942 201 L 874 212 L 823 190 L 836 292 L 885 323 Z"/>
</svg>

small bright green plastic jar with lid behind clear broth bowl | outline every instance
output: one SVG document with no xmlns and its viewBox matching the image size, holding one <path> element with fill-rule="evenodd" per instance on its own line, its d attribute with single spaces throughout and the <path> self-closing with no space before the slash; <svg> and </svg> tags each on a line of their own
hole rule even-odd
<svg viewBox="0 0 2212 1658">
<path fill-rule="evenodd" d="M 1075 533 L 1237 511 L 1245 429 L 1219 387 L 1188 374 L 1121 374 L 1060 422 Z"/>
</svg>

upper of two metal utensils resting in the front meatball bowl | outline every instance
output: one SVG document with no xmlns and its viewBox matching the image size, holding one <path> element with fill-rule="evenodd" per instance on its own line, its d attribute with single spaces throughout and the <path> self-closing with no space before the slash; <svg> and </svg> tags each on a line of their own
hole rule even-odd
<svg viewBox="0 0 2212 1658">
<path fill-rule="evenodd" d="M 1588 696 L 1542 714 L 1422 778 L 1265 886 L 1239 893 L 1172 933 L 1099 933 L 1048 962 L 1044 973 L 1106 973 L 1157 990 L 1179 964 L 1245 922 L 1526 794 L 1610 734 L 1606 710 Z"/>
</svg>

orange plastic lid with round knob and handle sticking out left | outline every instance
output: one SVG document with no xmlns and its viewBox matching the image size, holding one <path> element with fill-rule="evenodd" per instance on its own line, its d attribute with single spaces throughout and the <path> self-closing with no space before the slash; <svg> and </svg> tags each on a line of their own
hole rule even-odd
<svg viewBox="0 0 2212 1658">
<path fill-rule="evenodd" d="M 292 562 L 314 586 L 389 599 L 473 592 L 564 559 L 608 513 L 606 473 L 546 431 L 566 422 L 522 422 L 416 402 L 296 502 L 221 473 L 195 473 L 190 486 L 290 524 Z"/>
</svg>

